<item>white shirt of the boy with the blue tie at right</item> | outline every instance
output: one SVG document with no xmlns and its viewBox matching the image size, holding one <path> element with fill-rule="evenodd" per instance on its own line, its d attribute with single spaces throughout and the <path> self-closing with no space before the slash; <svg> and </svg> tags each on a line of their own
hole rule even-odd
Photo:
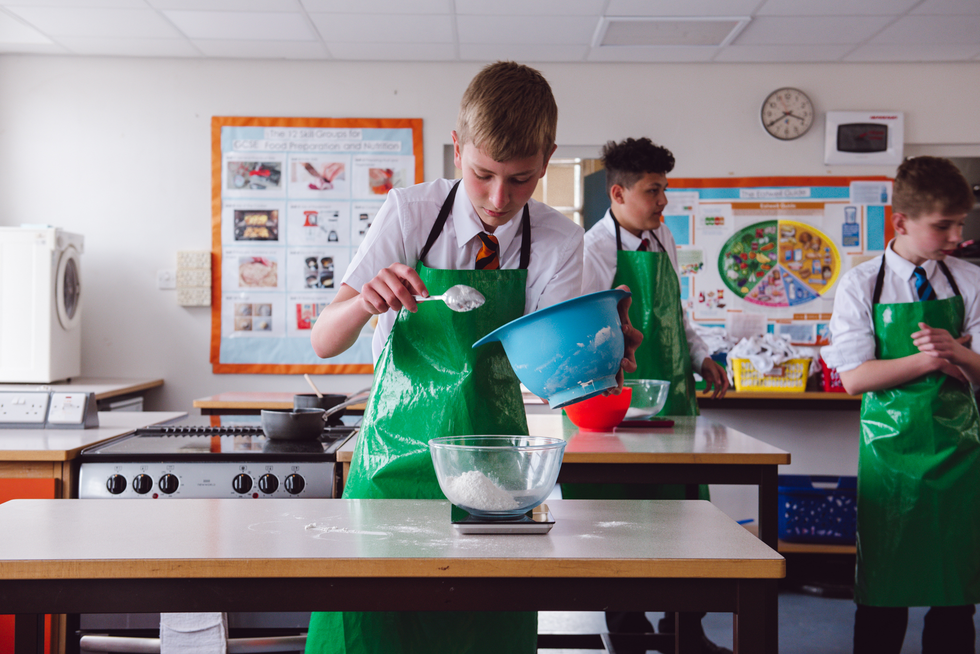
<svg viewBox="0 0 980 654">
<path fill-rule="evenodd" d="M 894 241 L 892 242 L 894 243 Z M 918 302 L 915 291 L 915 264 L 892 250 L 892 243 L 885 250 L 885 279 L 881 284 L 881 304 Z M 973 335 L 971 348 L 980 352 L 980 266 L 946 257 L 946 267 L 956 280 L 959 295 L 963 298 L 962 334 Z M 874 257 L 852 268 L 841 277 L 834 297 L 834 314 L 830 318 L 831 344 L 820 350 L 823 360 L 838 372 L 854 370 L 864 361 L 875 356 L 874 310 L 871 299 L 874 283 L 881 267 L 881 257 Z M 937 261 L 922 263 L 926 277 L 936 292 L 937 300 L 952 298 L 953 287 Z M 928 302 L 928 301 L 927 301 Z M 913 331 L 917 331 L 913 330 Z M 909 332 L 911 335 L 912 332 Z"/>
</svg>

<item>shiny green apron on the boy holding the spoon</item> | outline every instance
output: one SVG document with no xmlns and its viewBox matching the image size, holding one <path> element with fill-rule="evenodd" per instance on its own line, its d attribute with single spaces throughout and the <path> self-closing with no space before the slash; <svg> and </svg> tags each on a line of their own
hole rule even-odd
<svg viewBox="0 0 980 654">
<path fill-rule="evenodd" d="M 427 268 L 421 259 L 442 232 L 457 186 L 439 212 L 417 271 L 431 295 L 466 284 L 482 293 L 486 304 L 457 313 L 443 303 L 420 303 L 417 313 L 402 309 L 398 314 L 378 359 L 344 497 L 445 499 L 432 467 L 430 439 L 527 435 L 520 384 L 502 346 L 470 346 L 524 312 L 528 210 L 522 218 L 520 269 Z M 534 612 L 314 613 L 306 652 L 534 654 L 537 631 Z"/>
</svg>

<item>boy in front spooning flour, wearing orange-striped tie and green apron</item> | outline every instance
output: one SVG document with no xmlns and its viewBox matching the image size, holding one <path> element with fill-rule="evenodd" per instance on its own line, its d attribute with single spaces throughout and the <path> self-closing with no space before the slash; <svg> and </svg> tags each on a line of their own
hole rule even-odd
<svg viewBox="0 0 980 654">
<path fill-rule="evenodd" d="M 577 297 L 582 229 L 531 200 L 555 152 L 558 109 L 537 70 L 498 62 L 470 82 L 453 132 L 463 180 L 388 194 L 312 334 L 321 357 L 374 332 L 374 387 L 344 488 L 349 498 L 445 499 L 428 441 L 527 434 L 514 371 L 499 344 L 471 346 L 531 311 Z M 462 188 L 461 188 L 462 186 Z M 457 313 L 413 295 L 466 284 L 486 304 Z M 627 358 L 642 338 L 620 304 Z M 635 364 L 626 362 L 627 370 Z M 449 514 L 446 514 L 449 519 Z M 392 556 L 397 556 L 392 552 Z M 528 612 L 315 613 L 308 654 L 534 654 Z"/>
</svg>

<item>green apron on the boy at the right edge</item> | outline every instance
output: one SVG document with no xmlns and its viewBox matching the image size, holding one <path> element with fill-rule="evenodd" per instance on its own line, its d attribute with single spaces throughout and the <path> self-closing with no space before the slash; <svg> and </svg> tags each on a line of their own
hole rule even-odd
<svg viewBox="0 0 980 654">
<path fill-rule="evenodd" d="M 918 323 L 949 331 L 963 324 L 956 297 L 878 304 L 877 357 L 918 352 Z M 858 457 L 858 570 L 855 601 L 869 606 L 960 606 L 980 602 L 980 421 L 969 387 L 924 375 L 861 401 Z"/>
</svg>

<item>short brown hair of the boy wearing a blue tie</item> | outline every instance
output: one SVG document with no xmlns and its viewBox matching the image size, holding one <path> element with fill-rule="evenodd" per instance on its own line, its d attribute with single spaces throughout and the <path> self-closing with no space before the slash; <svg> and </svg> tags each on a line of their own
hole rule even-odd
<svg viewBox="0 0 980 654">
<path fill-rule="evenodd" d="M 941 157 L 909 157 L 895 174 L 892 209 L 917 218 L 939 211 L 958 215 L 973 208 L 973 191 L 956 164 Z"/>
</svg>

